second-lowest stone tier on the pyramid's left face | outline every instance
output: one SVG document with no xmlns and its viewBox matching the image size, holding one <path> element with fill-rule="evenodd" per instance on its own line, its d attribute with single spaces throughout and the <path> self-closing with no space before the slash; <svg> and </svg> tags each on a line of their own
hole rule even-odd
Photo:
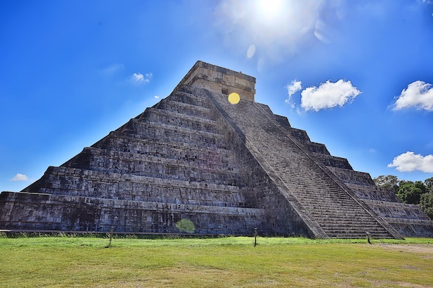
<svg viewBox="0 0 433 288">
<path fill-rule="evenodd" d="M 101 181 L 108 177 L 111 182 Z M 38 182 L 37 190 L 29 188 L 26 192 L 219 207 L 257 206 L 250 190 L 234 183 L 190 182 L 62 166 L 50 167 Z"/>
</svg>

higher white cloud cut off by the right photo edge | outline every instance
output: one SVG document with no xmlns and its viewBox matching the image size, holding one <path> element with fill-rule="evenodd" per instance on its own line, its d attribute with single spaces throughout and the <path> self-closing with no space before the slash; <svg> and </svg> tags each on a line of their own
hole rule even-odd
<svg viewBox="0 0 433 288">
<path fill-rule="evenodd" d="M 423 81 L 414 81 L 401 91 L 394 110 L 415 107 L 433 111 L 433 85 Z"/>
</svg>

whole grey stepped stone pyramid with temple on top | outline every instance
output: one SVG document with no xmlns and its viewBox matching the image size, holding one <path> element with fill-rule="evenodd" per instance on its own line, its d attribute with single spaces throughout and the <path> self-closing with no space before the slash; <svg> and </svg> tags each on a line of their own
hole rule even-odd
<svg viewBox="0 0 433 288">
<path fill-rule="evenodd" d="M 418 206 L 254 97 L 254 77 L 198 61 L 169 97 L 23 191 L 2 192 L 0 229 L 433 237 Z"/>
</svg>

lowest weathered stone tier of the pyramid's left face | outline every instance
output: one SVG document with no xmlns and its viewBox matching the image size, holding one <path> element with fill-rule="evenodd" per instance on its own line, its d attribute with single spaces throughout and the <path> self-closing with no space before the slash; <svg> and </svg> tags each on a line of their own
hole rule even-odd
<svg viewBox="0 0 433 288">
<path fill-rule="evenodd" d="M 12 203 L 15 207 L 9 207 Z M 25 211 L 1 213 L 2 229 L 31 231 L 110 231 L 114 227 L 114 231 L 131 233 L 252 234 L 265 219 L 261 209 L 36 193 L 2 192 L 1 204 L 4 209 Z M 176 223 L 182 219 L 194 223 L 194 231 L 178 229 Z"/>
</svg>

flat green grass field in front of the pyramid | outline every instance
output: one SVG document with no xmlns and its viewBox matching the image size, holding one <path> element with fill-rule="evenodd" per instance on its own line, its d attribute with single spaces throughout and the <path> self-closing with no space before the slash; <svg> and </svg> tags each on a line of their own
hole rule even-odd
<svg viewBox="0 0 433 288">
<path fill-rule="evenodd" d="M 0 238 L 0 287 L 433 287 L 433 239 Z"/>
</svg>

